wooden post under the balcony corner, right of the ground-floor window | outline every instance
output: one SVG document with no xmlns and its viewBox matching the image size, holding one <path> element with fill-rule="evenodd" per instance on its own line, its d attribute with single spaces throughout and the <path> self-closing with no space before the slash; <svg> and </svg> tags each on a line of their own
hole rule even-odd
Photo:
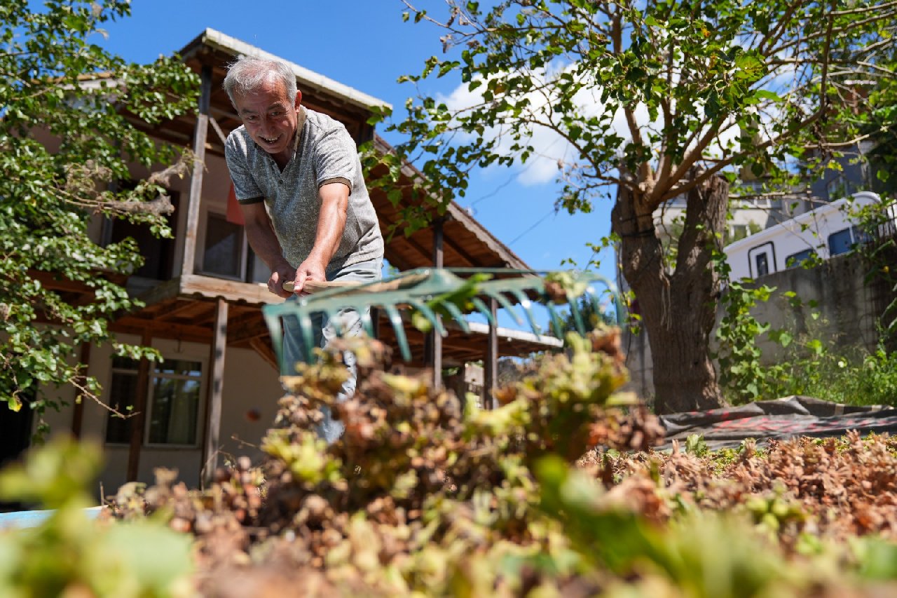
<svg viewBox="0 0 897 598">
<path fill-rule="evenodd" d="M 227 351 L 228 303 L 219 298 L 215 306 L 215 329 L 212 335 L 208 387 L 205 393 L 205 442 L 203 444 L 203 482 L 208 488 L 218 469 L 218 445 L 222 429 L 222 394 L 224 389 L 224 354 Z"/>
</svg>

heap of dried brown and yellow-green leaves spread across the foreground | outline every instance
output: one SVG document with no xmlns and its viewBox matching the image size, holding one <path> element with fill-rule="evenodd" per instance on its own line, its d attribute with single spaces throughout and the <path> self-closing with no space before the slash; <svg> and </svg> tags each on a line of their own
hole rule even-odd
<svg viewBox="0 0 897 598">
<path fill-rule="evenodd" d="M 529 365 L 520 382 L 498 391 L 501 407 L 487 411 L 470 403 L 462 409 L 425 375 L 391 372 L 377 341 L 341 340 L 285 379 L 292 395 L 281 400 L 261 467 L 240 458 L 205 491 L 159 471 L 151 488 L 121 488 L 109 511 L 125 530 L 161 533 L 165 522 L 184 532 L 197 570 L 191 591 L 201 595 L 718 598 L 897 590 L 892 439 L 746 442 L 716 453 L 692 442 L 658 453 L 658 421 L 618 392 L 626 374 L 616 331 L 574 335 L 568 344 L 569 352 Z M 351 400 L 335 404 L 344 350 L 358 358 L 359 385 Z M 345 424 L 330 446 L 314 432 L 322 406 Z M 78 469 L 56 475 L 74 479 Z M 61 505 L 60 514 L 69 508 Z M 100 524 L 90 541 L 79 536 L 78 553 L 99 550 L 109 529 L 116 525 Z M 2 547 L 36 554 L 23 542 L 42 533 L 0 535 L 0 555 Z M 67 565 L 67 545 L 57 542 L 57 556 L 46 562 L 57 563 L 55 578 L 81 580 L 75 575 L 87 569 Z M 185 567 L 188 559 L 169 558 L 181 549 L 152 550 L 157 567 L 171 567 L 165 579 L 180 579 L 175 560 Z M 21 565 L 4 565 L 0 588 L 27 587 Z M 94 575 L 105 573 L 91 569 L 88 579 Z M 126 595 L 94 583 L 87 595 Z M 161 595 L 176 595 L 179 586 L 172 587 Z"/>
</svg>

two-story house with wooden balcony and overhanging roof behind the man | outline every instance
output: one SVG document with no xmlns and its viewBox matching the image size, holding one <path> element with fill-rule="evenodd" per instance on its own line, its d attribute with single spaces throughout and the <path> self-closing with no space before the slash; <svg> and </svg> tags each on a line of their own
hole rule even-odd
<svg viewBox="0 0 897 598">
<path fill-rule="evenodd" d="M 239 55 L 271 55 L 213 30 L 203 31 L 179 54 L 201 76 L 196 114 L 152 128 L 134 121 L 161 143 L 191 148 L 200 161 L 190 177 L 175 180 L 169 189 L 176 206 L 170 216 L 174 238 L 157 239 L 144 227 L 121 221 L 91 224 L 98 243 L 126 236 L 138 242 L 146 261 L 126 286 L 145 307 L 122 316 L 111 328 L 121 339 L 157 348 L 164 362 L 135 362 L 113 357 L 109 347 L 83 347 L 81 361 L 102 383 L 101 399 L 119 410 L 131 409 L 135 415 L 111 417 L 89 400 L 76 403 L 73 391 L 63 397 L 70 403 L 67 408 L 47 416 L 56 432 L 69 430 L 104 444 L 107 463 L 101 481 L 107 493 L 126 480 L 151 481 L 157 467 L 176 468 L 180 479 L 195 485 L 222 462 L 222 456 L 258 455 L 257 444 L 272 425 L 277 400 L 283 395 L 261 313 L 263 305 L 280 299 L 266 290 L 269 272 L 249 248 L 239 209 L 229 198 L 231 182 L 223 145 L 228 133 L 240 125 L 222 90 L 227 65 Z M 367 123 L 372 110 L 386 102 L 299 65 L 292 68 L 304 105 L 343 122 L 358 144 L 373 140 L 380 151 L 389 150 Z M 147 174 L 141 167 L 132 170 L 135 180 Z M 419 173 L 409 165 L 403 176 L 410 180 Z M 411 201 L 410 192 L 403 193 L 402 202 L 394 206 L 385 190 L 371 190 L 385 233 Z M 527 269 L 455 204 L 434 217 L 426 229 L 410 236 L 401 232 L 388 236 L 386 259 L 398 270 L 431 266 Z M 48 284 L 59 285 L 65 293 L 83 292 L 64 283 Z M 523 356 L 560 346 L 557 339 L 517 330 L 486 325 L 473 329 L 470 333 L 450 329 L 447 337 L 428 342 L 425 335 L 408 327 L 413 353 L 409 366 L 430 366 L 437 373 L 442 367 L 460 366 L 464 371 L 467 362 L 483 360 L 488 387 L 498 356 Z M 389 326 L 380 330 L 382 340 L 395 343 Z M 21 433 L 21 419 L 16 421 Z M 13 430 L 3 429 L 10 426 L 0 420 L 0 429 L 12 438 Z"/>
</svg>

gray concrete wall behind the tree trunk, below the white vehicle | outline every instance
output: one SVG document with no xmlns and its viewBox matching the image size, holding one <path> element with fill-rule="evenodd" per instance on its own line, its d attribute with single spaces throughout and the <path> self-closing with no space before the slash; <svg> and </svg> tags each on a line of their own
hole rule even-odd
<svg viewBox="0 0 897 598">
<path fill-rule="evenodd" d="M 891 263 L 897 263 L 895 259 L 897 256 L 891 256 Z M 872 351 L 878 341 L 878 320 L 895 295 L 881 280 L 865 281 L 871 268 L 862 257 L 840 255 L 817 268 L 791 268 L 761 277 L 758 285 L 774 286 L 777 290 L 767 303 L 754 307 L 753 315 L 758 321 L 769 322 L 773 329 L 807 334 L 822 340 L 827 347 L 840 347 L 845 352 L 852 347 Z M 784 295 L 787 291 L 797 294 L 800 306 L 789 303 Z M 814 317 L 814 313 L 818 315 Z M 717 321 L 722 315 L 720 307 Z M 715 335 L 714 330 L 712 338 Z M 781 357 L 780 347 L 765 335 L 759 339 L 758 346 L 765 363 L 774 363 Z M 630 371 L 626 390 L 650 402 L 654 397 L 654 383 L 648 333 L 642 330 L 633 335 L 623 330 L 623 350 Z"/>
</svg>

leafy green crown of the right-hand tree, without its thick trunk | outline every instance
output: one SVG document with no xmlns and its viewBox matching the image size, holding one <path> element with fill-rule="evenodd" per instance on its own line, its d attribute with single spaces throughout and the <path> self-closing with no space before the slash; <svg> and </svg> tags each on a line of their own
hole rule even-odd
<svg viewBox="0 0 897 598">
<path fill-rule="evenodd" d="M 448 0 L 444 22 L 405 4 L 406 18 L 444 28 L 447 57 L 401 80 L 454 73 L 468 92 L 410 99 L 391 127 L 443 199 L 464 195 L 475 166 L 543 155 L 529 145 L 539 129 L 575 150 L 558 164 L 559 205 L 573 212 L 619 185 L 656 207 L 744 164 L 793 174 L 788 158 L 824 165 L 868 123 L 893 126 L 893 106 L 868 93 L 894 76 L 879 64 L 893 53 L 893 1 Z"/>
</svg>

